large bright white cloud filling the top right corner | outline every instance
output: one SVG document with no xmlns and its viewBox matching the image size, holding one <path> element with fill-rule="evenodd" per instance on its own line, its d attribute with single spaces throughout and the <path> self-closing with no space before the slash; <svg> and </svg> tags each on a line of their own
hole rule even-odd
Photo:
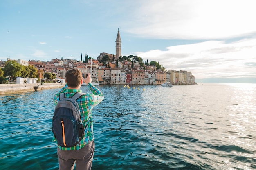
<svg viewBox="0 0 256 170">
<path fill-rule="evenodd" d="M 159 39 L 222 39 L 256 33 L 254 0 L 146 0 L 123 28 Z"/>
</svg>

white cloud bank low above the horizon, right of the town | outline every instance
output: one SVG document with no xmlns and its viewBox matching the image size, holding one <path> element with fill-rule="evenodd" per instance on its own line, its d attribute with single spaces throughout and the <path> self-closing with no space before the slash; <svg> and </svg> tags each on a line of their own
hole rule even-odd
<svg viewBox="0 0 256 170">
<path fill-rule="evenodd" d="M 150 50 L 137 55 L 159 61 L 166 70 L 191 71 L 196 78 L 256 76 L 256 38 L 225 43 L 205 41 Z"/>
</svg>

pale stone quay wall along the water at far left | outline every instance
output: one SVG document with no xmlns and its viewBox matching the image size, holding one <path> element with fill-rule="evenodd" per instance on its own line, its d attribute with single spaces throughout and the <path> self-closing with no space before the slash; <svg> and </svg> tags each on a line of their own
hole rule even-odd
<svg viewBox="0 0 256 170">
<path fill-rule="evenodd" d="M 0 95 L 4 94 L 16 94 L 20 92 L 35 92 L 38 90 L 45 89 L 54 89 L 54 88 L 62 88 L 65 83 L 44 83 L 41 85 L 40 83 L 33 84 L 0 84 Z M 35 90 L 34 87 L 38 86 Z"/>
</svg>

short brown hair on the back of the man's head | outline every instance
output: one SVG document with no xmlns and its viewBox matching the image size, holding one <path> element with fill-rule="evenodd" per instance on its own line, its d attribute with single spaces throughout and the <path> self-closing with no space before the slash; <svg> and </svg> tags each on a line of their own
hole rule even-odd
<svg viewBox="0 0 256 170">
<path fill-rule="evenodd" d="M 81 84 L 82 73 L 78 69 L 68 70 L 65 74 L 65 77 L 68 87 L 75 88 Z"/>
</svg>

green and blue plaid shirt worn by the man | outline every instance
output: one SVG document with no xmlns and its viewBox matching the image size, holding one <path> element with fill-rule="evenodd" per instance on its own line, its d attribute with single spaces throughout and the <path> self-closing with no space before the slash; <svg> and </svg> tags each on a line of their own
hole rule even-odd
<svg viewBox="0 0 256 170">
<path fill-rule="evenodd" d="M 103 99 L 104 96 L 102 92 L 97 89 L 94 85 L 91 83 L 88 83 L 87 85 L 92 93 L 87 93 L 78 98 L 76 101 L 79 105 L 80 113 L 81 113 L 81 119 L 83 122 L 83 125 L 85 126 L 88 119 L 88 125 L 87 129 L 85 129 L 85 135 L 83 139 L 77 144 L 76 146 L 65 148 L 58 146 L 61 150 L 79 150 L 83 148 L 86 144 L 88 144 L 90 141 L 94 140 L 93 136 L 93 124 L 92 124 L 92 108 L 96 105 L 98 105 Z M 72 97 L 76 92 L 82 92 L 80 89 L 67 89 L 67 84 L 54 96 L 54 105 L 56 106 L 59 101 L 59 96 L 61 93 L 66 93 L 66 98 Z M 53 138 L 53 141 L 56 141 L 55 138 Z"/>
</svg>

